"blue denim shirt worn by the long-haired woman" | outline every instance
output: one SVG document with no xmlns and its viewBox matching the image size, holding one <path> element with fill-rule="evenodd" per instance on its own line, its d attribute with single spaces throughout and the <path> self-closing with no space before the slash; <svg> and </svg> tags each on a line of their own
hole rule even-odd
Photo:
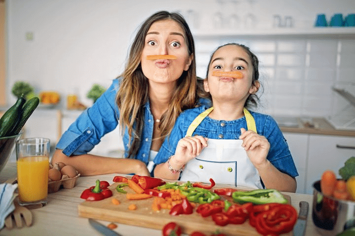
<svg viewBox="0 0 355 236">
<path fill-rule="evenodd" d="M 114 79 L 111 86 L 105 93 L 86 109 L 64 132 L 56 148 L 62 149 L 67 156 L 82 155 L 92 150 L 100 143 L 101 138 L 108 132 L 114 130 L 118 125 L 119 110 L 115 102 L 116 94 L 121 79 Z M 208 100 L 200 99 L 200 102 L 207 103 Z M 144 129 L 141 137 L 141 148 L 135 159 L 148 164 L 150 147 L 153 138 L 154 118 L 150 111 L 149 100 L 144 104 Z M 128 156 L 129 135 L 125 129 L 123 135 L 125 157 Z M 157 160 L 162 162 L 161 160 Z"/>
</svg>

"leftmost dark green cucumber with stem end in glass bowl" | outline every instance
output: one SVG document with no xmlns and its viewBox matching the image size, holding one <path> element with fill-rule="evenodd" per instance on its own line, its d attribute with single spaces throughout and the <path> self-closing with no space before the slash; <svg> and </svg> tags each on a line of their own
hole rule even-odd
<svg viewBox="0 0 355 236">
<path fill-rule="evenodd" d="M 20 122 L 22 117 L 22 106 L 26 99 L 21 96 L 17 99 L 16 103 L 10 107 L 0 119 L 0 137 L 8 137 L 11 131 Z"/>
</svg>

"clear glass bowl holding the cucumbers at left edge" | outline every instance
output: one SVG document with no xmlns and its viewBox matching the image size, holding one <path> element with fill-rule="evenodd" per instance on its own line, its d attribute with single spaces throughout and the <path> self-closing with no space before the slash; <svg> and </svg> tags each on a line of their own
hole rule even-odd
<svg viewBox="0 0 355 236">
<path fill-rule="evenodd" d="M 17 135 L 0 138 L 0 172 L 5 167 L 8 159 L 15 149 L 16 141 L 20 139 L 23 130 Z"/>
</svg>

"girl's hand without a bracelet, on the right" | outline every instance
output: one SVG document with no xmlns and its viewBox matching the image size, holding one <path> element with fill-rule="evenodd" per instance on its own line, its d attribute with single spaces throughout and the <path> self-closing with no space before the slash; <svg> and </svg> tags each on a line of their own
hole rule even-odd
<svg viewBox="0 0 355 236">
<path fill-rule="evenodd" d="M 267 163 L 266 157 L 269 153 L 270 143 L 262 135 L 241 128 L 241 136 L 239 139 L 243 140 L 242 147 L 247 151 L 247 155 L 251 163 L 258 169 Z"/>
</svg>

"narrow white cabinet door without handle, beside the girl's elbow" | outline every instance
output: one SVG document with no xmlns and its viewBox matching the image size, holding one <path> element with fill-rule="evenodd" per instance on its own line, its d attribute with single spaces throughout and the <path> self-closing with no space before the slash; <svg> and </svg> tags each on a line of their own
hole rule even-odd
<svg viewBox="0 0 355 236">
<path fill-rule="evenodd" d="M 296 193 L 304 193 L 306 188 L 308 134 L 284 133 L 299 176 L 296 177 Z"/>
</svg>

